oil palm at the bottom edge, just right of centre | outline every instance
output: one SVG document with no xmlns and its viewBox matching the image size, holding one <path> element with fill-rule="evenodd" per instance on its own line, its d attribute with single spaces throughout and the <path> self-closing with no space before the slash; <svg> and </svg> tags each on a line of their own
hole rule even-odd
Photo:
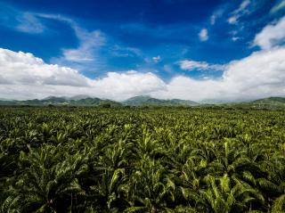
<svg viewBox="0 0 285 213">
<path fill-rule="evenodd" d="M 166 212 L 167 203 L 175 202 L 175 183 L 166 168 L 147 156 L 138 168 L 124 187 L 130 205 L 126 212 Z"/>
</svg>

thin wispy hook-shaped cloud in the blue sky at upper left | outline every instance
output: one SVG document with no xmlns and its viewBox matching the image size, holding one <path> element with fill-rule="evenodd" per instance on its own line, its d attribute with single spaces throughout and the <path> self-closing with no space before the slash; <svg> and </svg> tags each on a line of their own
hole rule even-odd
<svg viewBox="0 0 285 213">
<path fill-rule="evenodd" d="M 0 3 L 0 25 L 19 30 L 24 33 L 43 33 L 45 25 L 43 20 L 57 20 L 64 22 L 74 30 L 79 41 L 76 48 L 62 48 L 61 58 L 53 59 L 53 61 L 61 64 L 74 63 L 92 63 L 98 60 L 99 47 L 105 44 L 105 36 L 100 30 L 88 31 L 80 28 L 76 21 L 68 17 L 57 14 L 46 14 L 38 12 L 23 12 L 17 8 L 13 8 L 6 4 Z"/>
</svg>

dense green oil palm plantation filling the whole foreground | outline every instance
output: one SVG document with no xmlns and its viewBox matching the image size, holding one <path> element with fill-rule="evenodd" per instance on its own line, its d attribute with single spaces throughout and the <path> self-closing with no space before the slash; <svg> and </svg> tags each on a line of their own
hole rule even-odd
<svg viewBox="0 0 285 213">
<path fill-rule="evenodd" d="M 0 212 L 284 212 L 285 111 L 0 108 Z"/>
</svg>

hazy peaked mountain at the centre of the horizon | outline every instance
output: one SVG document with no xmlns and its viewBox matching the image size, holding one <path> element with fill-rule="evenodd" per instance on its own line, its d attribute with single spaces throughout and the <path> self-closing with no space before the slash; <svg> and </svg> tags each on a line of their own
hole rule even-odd
<svg viewBox="0 0 285 213">
<path fill-rule="evenodd" d="M 122 103 L 128 106 L 195 106 L 199 104 L 198 102 L 180 99 L 162 100 L 148 95 L 134 96 Z"/>
</svg>

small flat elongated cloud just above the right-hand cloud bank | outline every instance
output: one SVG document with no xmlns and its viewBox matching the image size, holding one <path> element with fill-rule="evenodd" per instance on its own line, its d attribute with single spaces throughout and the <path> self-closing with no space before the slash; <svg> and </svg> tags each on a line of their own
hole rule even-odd
<svg viewBox="0 0 285 213">
<path fill-rule="evenodd" d="M 179 61 L 179 65 L 182 70 L 224 70 L 226 68 L 224 64 L 210 64 L 206 61 L 191 60 Z"/>
</svg>

